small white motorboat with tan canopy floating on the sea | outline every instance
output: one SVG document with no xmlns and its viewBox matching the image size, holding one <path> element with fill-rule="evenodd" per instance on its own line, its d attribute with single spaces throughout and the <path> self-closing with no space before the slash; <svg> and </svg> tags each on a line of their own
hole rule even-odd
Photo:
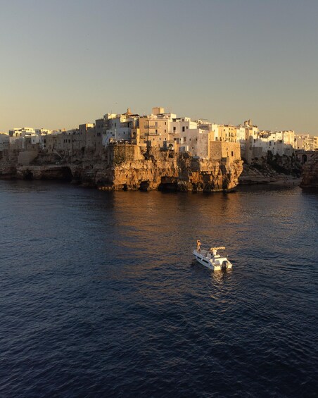
<svg viewBox="0 0 318 398">
<path fill-rule="evenodd" d="M 224 250 L 225 247 L 211 247 L 210 249 L 201 249 L 200 246 L 192 251 L 196 261 L 210 270 L 227 270 L 232 268 L 231 261 L 226 256 L 217 254 L 218 250 Z"/>
</svg>

